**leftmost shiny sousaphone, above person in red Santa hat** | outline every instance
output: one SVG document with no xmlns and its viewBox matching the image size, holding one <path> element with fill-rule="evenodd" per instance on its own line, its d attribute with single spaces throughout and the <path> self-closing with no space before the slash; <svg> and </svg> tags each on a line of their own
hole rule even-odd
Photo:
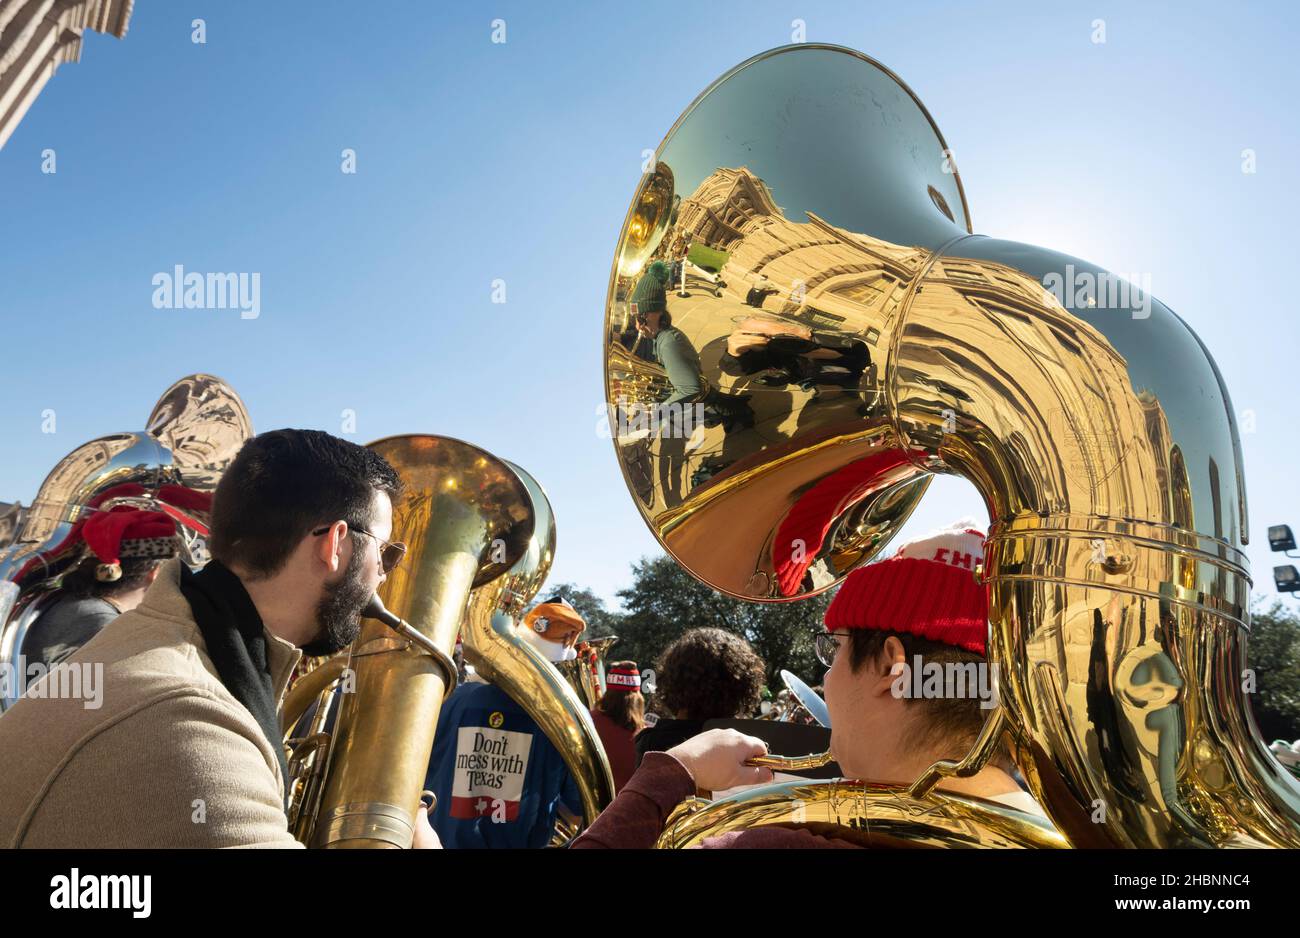
<svg viewBox="0 0 1300 938">
<path fill-rule="evenodd" d="M 186 563 L 205 563 L 207 525 L 160 492 L 213 492 L 251 435 L 239 395 L 220 378 L 191 374 L 162 392 L 144 430 L 100 437 L 64 456 L 23 509 L 13 540 L 0 547 L 0 665 L 13 673 L 27 629 L 55 599 L 62 574 L 86 556 L 83 543 L 65 538 L 88 512 L 124 504 L 165 512 L 183 521 L 177 529 Z M 16 690 L 0 695 L 0 709 L 13 704 Z"/>
</svg>

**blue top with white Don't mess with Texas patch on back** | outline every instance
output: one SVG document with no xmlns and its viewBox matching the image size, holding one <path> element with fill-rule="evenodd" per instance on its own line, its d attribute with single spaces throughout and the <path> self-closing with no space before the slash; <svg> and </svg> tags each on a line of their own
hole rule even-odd
<svg viewBox="0 0 1300 938">
<path fill-rule="evenodd" d="M 541 728 L 490 683 L 463 683 L 443 703 L 425 787 L 443 847 L 545 847 L 560 802 L 581 813 L 577 785 Z"/>
</svg>

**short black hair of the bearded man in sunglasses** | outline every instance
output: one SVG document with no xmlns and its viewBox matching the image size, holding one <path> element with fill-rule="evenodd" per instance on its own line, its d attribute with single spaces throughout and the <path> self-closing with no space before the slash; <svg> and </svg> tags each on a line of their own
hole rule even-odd
<svg viewBox="0 0 1300 938">
<path fill-rule="evenodd" d="M 208 550 L 254 577 L 280 570 L 320 525 L 369 529 L 374 492 L 402 482 L 373 450 L 321 430 L 272 430 L 247 443 L 222 473 L 212 500 Z"/>
</svg>

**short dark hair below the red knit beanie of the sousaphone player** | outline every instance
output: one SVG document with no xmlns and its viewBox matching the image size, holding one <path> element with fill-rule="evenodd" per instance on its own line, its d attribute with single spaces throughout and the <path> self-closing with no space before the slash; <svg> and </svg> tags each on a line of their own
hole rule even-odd
<svg viewBox="0 0 1300 938">
<path fill-rule="evenodd" d="M 897 638 L 902 643 L 907 666 L 913 668 L 916 656 L 924 664 L 984 664 L 985 659 L 974 651 L 966 651 L 944 642 L 932 642 L 905 631 L 881 631 L 878 629 L 849 629 L 849 665 L 858 673 L 863 664 L 876 661 L 884 653 L 885 642 Z M 965 759 L 975 738 L 984 726 L 984 718 L 992 713 L 980 707 L 978 695 L 944 698 L 906 698 L 909 712 L 919 717 L 915 731 L 910 734 L 913 751 L 944 750 L 948 759 Z M 998 750 L 997 764 L 1004 765 L 1006 756 Z"/>
</svg>

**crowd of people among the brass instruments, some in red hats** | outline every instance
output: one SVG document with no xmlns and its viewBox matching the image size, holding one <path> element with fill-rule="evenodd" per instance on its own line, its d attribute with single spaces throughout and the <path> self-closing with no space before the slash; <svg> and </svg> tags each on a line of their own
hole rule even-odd
<svg viewBox="0 0 1300 938">
<path fill-rule="evenodd" d="M 351 644 L 370 596 L 402 563 L 404 547 L 390 540 L 399 488 L 370 450 L 278 430 L 248 440 L 202 507 L 212 559 L 198 572 L 178 556 L 170 516 L 92 513 L 73 534 L 87 559 L 25 652 L 103 666 L 103 705 L 29 695 L 0 717 L 0 844 L 300 846 L 287 826 L 278 711 L 299 659 Z M 922 661 L 985 664 L 982 556 L 982 533 L 959 525 L 854 570 L 838 589 L 815 647 L 831 754 L 845 777 L 905 783 L 970 751 L 984 702 L 918 696 L 900 676 Z M 573 659 L 585 629 L 563 596 L 517 625 L 556 664 Z M 772 780 L 748 764 L 767 755 L 760 738 L 707 728 L 760 712 L 766 665 L 744 638 L 693 627 L 653 664 L 655 713 L 638 663 L 604 669 L 590 717 L 615 796 L 573 848 L 653 846 L 681 800 Z M 563 754 L 523 702 L 474 674 L 441 709 L 426 787 L 434 798 L 416 812 L 415 847 L 543 847 L 566 817 L 582 816 Z M 940 789 L 1041 816 L 1005 752 Z M 703 846 L 852 844 L 762 826 Z"/>
</svg>

